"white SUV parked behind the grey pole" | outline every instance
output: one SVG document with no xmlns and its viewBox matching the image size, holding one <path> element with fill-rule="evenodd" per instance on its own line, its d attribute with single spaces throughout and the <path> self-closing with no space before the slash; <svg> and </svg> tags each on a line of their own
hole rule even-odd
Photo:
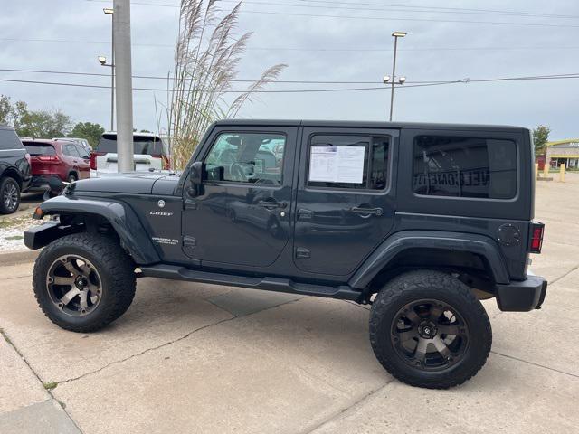
<svg viewBox="0 0 579 434">
<path fill-rule="evenodd" d="M 133 134 L 133 149 L 136 172 L 171 168 L 168 146 L 156 134 Z M 90 153 L 90 168 L 95 171 L 95 176 L 116 173 L 118 159 L 117 133 L 104 133 L 97 147 Z"/>
</svg>

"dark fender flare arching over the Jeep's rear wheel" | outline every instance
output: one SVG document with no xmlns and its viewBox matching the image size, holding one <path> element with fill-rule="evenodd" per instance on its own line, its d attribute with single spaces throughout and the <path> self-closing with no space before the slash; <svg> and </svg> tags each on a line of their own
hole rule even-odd
<svg viewBox="0 0 579 434">
<path fill-rule="evenodd" d="M 348 284 L 364 289 L 388 263 L 403 250 L 428 248 L 465 251 L 487 260 L 496 283 L 508 284 L 508 270 L 498 244 L 484 235 L 450 231 L 400 231 L 380 244 L 356 270 Z"/>
</svg>

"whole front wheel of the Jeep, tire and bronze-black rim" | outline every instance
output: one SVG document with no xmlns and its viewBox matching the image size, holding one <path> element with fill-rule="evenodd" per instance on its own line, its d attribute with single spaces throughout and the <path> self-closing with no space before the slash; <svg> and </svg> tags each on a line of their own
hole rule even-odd
<svg viewBox="0 0 579 434">
<path fill-rule="evenodd" d="M 34 295 L 54 324 L 73 332 L 99 330 L 119 318 L 135 296 L 135 264 L 117 242 L 79 233 L 52 241 L 36 259 Z"/>
</svg>

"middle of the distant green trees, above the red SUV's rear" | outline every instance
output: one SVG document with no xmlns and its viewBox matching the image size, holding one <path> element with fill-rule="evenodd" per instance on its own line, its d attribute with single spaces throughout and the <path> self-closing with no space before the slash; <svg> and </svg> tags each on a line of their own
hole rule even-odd
<svg viewBox="0 0 579 434">
<path fill-rule="evenodd" d="M 64 137 L 71 131 L 72 120 L 60 109 L 33 110 L 25 112 L 14 127 L 19 136 Z"/>
</svg>

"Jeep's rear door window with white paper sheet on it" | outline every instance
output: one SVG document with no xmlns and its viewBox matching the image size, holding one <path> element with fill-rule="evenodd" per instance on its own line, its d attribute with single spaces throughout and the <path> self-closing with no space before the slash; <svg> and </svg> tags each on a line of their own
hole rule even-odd
<svg viewBox="0 0 579 434">
<path fill-rule="evenodd" d="M 308 185 L 383 190 L 390 137 L 326 136 L 309 140 Z"/>
</svg>

